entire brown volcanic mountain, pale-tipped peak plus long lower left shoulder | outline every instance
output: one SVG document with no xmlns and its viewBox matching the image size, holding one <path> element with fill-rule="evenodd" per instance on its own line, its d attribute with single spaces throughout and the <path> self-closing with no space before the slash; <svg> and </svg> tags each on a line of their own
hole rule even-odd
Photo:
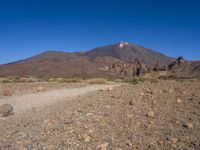
<svg viewBox="0 0 200 150">
<path fill-rule="evenodd" d="M 144 64 L 151 67 L 156 64 L 167 66 L 174 59 L 142 46 L 119 42 L 117 44 L 95 48 L 86 52 L 66 53 L 47 51 L 31 58 L 0 65 L 0 76 L 38 76 L 38 77 L 105 77 L 118 76 L 111 72 L 113 65 Z M 123 65 L 118 72 L 124 71 Z M 129 67 L 130 68 L 130 67 Z M 120 70 L 121 69 L 121 70 Z M 125 73 L 126 75 L 126 73 Z"/>
</svg>

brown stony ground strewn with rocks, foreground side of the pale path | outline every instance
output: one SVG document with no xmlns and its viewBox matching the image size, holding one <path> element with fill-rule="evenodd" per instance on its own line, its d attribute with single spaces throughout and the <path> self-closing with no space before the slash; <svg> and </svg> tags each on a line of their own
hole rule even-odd
<svg viewBox="0 0 200 150">
<path fill-rule="evenodd" d="M 0 149 L 200 149 L 200 81 L 145 81 L 0 118 Z"/>
</svg>

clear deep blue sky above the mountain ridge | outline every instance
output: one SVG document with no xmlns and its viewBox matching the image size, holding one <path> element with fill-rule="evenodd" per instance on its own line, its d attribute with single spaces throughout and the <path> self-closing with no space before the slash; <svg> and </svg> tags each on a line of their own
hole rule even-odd
<svg viewBox="0 0 200 150">
<path fill-rule="evenodd" d="M 0 64 L 119 41 L 200 60 L 200 1 L 0 0 Z"/>
</svg>

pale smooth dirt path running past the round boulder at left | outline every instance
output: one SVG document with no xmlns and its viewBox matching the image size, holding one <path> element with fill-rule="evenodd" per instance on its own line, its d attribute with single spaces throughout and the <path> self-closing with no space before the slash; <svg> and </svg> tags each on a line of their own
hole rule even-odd
<svg viewBox="0 0 200 150">
<path fill-rule="evenodd" d="M 14 113 L 18 114 L 35 108 L 50 106 L 51 104 L 68 100 L 75 96 L 83 95 L 97 90 L 106 90 L 118 85 L 92 85 L 79 88 L 63 88 L 42 93 L 33 93 L 23 96 L 6 97 L 0 100 L 0 105 L 9 103 L 14 107 Z"/>
</svg>

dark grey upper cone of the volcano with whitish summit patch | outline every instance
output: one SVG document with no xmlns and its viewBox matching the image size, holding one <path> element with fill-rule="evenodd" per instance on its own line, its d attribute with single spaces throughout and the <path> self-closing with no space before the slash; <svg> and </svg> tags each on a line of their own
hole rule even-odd
<svg viewBox="0 0 200 150">
<path fill-rule="evenodd" d="M 114 45 L 99 47 L 86 52 L 85 55 L 90 58 L 109 56 L 129 63 L 133 63 L 137 59 L 141 63 L 148 65 L 155 65 L 157 62 L 166 65 L 172 61 L 172 58 L 161 53 L 142 46 L 129 44 L 127 42 L 120 42 Z"/>
</svg>

